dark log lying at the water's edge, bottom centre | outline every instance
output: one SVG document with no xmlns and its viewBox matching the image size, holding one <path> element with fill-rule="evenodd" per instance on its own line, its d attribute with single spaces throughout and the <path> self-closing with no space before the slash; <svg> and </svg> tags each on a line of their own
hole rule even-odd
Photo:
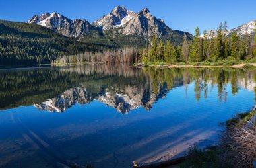
<svg viewBox="0 0 256 168">
<path fill-rule="evenodd" d="M 160 167 L 167 167 L 172 165 L 178 165 L 180 163 L 183 163 L 185 161 L 185 157 L 178 157 L 175 159 L 171 159 L 168 161 L 162 161 L 158 163 L 151 163 L 148 165 L 138 165 L 137 162 L 133 162 L 133 168 L 160 168 Z"/>
</svg>

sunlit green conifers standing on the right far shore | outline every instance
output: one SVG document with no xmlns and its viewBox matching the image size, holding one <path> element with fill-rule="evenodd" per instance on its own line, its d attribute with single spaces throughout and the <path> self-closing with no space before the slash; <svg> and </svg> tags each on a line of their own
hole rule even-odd
<svg viewBox="0 0 256 168">
<path fill-rule="evenodd" d="M 256 23 L 255 23 L 256 24 Z M 195 28 L 193 40 L 188 40 L 184 34 L 183 44 L 175 46 L 167 41 L 166 44 L 156 37 L 152 38 L 152 44 L 140 51 L 140 62 L 148 63 L 168 63 L 175 64 L 184 62 L 217 62 L 228 60 L 234 62 L 237 60 L 249 60 L 256 56 L 256 36 L 253 40 L 253 34 L 247 32 L 245 36 L 238 36 L 236 33 L 232 36 L 225 36 L 226 22 L 224 26 L 220 24 L 217 36 L 214 32 L 201 36 L 199 28 Z M 255 30 L 256 31 L 256 30 Z"/>
</svg>

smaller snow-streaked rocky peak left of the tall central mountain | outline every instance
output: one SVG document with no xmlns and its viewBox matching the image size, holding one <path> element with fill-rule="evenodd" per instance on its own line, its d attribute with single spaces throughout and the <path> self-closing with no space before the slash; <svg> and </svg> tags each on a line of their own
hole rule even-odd
<svg viewBox="0 0 256 168">
<path fill-rule="evenodd" d="M 89 22 L 82 19 L 71 20 L 59 13 L 44 13 L 40 16 L 35 15 L 28 20 L 30 24 L 39 24 L 55 30 L 68 37 L 78 37 L 87 34 L 91 30 L 96 30 Z"/>
</svg>

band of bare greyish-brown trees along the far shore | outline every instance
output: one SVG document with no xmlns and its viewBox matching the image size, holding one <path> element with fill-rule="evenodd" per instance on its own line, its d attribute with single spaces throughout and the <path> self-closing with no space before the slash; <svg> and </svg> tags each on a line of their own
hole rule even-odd
<svg viewBox="0 0 256 168">
<path fill-rule="evenodd" d="M 119 48 L 105 50 L 104 52 L 83 52 L 75 55 L 66 55 L 57 60 L 52 60 L 52 65 L 82 65 L 85 63 L 104 63 L 108 65 L 131 65 L 139 58 L 138 48 Z"/>
</svg>

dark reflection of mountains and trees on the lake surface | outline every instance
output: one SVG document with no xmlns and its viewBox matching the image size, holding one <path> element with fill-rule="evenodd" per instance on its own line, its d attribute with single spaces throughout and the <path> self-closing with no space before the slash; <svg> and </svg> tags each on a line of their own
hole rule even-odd
<svg viewBox="0 0 256 168">
<path fill-rule="evenodd" d="M 75 103 L 97 100 L 124 114 L 140 106 L 150 110 L 168 91 L 180 86 L 186 89 L 193 81 L 197 101 L 202 96 L 207 99 L 207 92 L 214 85 L 220 101 L 226 101 L 228 83 L 234 96 L 239 87 L 254 91 L 254 75 L 255 71 L 241 69 L 135 69 L 106 65 L 7 71 L 1 72 L 0 77 L 0 109 L 34 104 L 40 110 L 64 112 Z"/>
</svg>

